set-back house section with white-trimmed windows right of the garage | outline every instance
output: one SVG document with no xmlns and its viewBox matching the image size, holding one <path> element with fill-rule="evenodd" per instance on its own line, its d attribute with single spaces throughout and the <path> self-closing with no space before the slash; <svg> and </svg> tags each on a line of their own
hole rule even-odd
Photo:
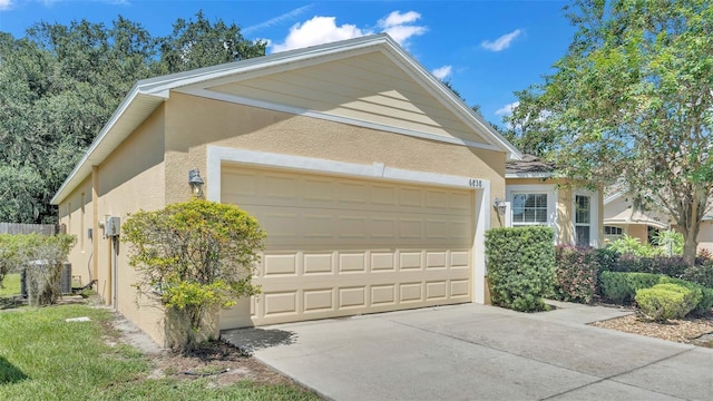
<svg viewBox="0 0 713 401">
<path fill-rule="evenodd" d="M 553 169 L 551 164 L 533 155 L 507 163 L 501 224 L 508 227 L 546 225 L 555 229 L 558 244 L 602 246 L 602 192 L 554 178 Z"/>
</svg>

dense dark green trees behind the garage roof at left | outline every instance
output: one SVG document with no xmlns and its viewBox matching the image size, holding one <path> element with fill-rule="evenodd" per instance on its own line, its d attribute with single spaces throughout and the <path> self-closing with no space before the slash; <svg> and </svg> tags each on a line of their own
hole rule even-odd
<svg viewBox="0 0 713 401">
<path fill-rule="evenodd" d="M 0 221 L 55 223 L 49 202 L 139 79 L 263 56 L 202 12 L 166 37 L 118 17 L 0 32 Z"/>
</svg>

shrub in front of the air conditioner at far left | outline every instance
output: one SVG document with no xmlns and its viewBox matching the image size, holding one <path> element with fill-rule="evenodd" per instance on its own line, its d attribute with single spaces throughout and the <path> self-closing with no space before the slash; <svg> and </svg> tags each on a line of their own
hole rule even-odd
<svg viewBox="0 0 713 401">
<path fill-rule="evenodd" d="M 61 296 L 62 263 L 76 241 L 67 234 L 0 234 L 0 284 L 4 274 L 25 270 L 29 303 L 56 303 Z"/>
</svg>

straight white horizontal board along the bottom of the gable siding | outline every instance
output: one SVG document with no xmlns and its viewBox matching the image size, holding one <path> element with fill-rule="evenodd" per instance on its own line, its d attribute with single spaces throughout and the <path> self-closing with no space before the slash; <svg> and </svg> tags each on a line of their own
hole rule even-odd
<svg viewBox="0 0 713 401">
<path fill-rule="evenodd" d="M 334 121 L 334 123 L 349 124 L 349 125 L 353 125 L 353 126 L 358 126 L 358 127 L 364 127 L 364 128 L 370 128 L 370 129 L 375 129 L 375 130 L 401 134 L 401 135 L 407 135 L 407 136 L 421 138 L 421 139 L 433 140 L 433 141 L 441 141 L 441 143 L 455 144 L 455 145 L 462 145 L 462 146 L 467 146 L 467 147 L 481 148 L 481 149 L 487 149 L 487 150 L 502 150 L 501 148 L 499 148 L 497 146 L 494 146 L 494 145 L 481 144 L 481 143 L 471 141 L 471 140 L 463 140 L 463 139 L 460 139 L 460 138 L 445 137 L 445 136 L 440 136 L 440 135 L 436 135 L 436 134 L 417 131 L 417 130 L 407 129 L 407 128 L 400 128 L 400 127 L 393 127 L 393 126 L 388 126 L 388 125 L 383 125 L 383 124 L 370 123 L 370 121 L 364 121 L 364 120 L 361 120 L 361 119 L 354 119 L 354 118 L 349 118 L 349 117 L 343 117 L 343 116 L 335 116 L 335 115 L 330 115 L 330 114 L 326 114 L 326 113 L 307 110 L 307 109 L 293 107 L 293 106 L 277 105 L 277 104 L 273 104 L 273 102 L 270 102 L 270 101 L 256 100 L 256 99 L 246 98 L 246 97 L 242 97 L 242 96 L 235 96 L 235 95 L 217 92 L 217 91 L 213 91 L 213 90 L 208 90 L 208 89 L 197 89 L 197 88 L 188 89 L 188 88 L 183 88 L 183 89 L 178 89 L 176 91 L 179 91 L 179 92 L 186 94 L 186 95 L 204 97 L 204 98 L 208 98 L 208 99 L 213 99 L 213 100 L 227 101 L 227 102 L 240 104 L 240 105 L 245 105 L 245 106 L 251 106 L 251 107 L 258 107 L 258 108 L 274 110 L 274 111 L 287 113 L 287 114 L 305 116 L 305 117 L 312 117 L 312 118 L 319 118 L 319 119 Z"/>
</svg>

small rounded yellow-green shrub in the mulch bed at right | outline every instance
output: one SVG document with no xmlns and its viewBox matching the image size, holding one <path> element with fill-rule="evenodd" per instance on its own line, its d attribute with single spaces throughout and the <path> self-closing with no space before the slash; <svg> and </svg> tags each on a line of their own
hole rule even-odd
<svg viewBox="0 0 713 401">
<path fill-rule="evenodd" d="M 673 283 L 656 284 L 651 288 L 636 291 L 635 299 L 646 317 L 665 322 L 688 314 L 701 300 L 701 292 Z"/>
</svg>

